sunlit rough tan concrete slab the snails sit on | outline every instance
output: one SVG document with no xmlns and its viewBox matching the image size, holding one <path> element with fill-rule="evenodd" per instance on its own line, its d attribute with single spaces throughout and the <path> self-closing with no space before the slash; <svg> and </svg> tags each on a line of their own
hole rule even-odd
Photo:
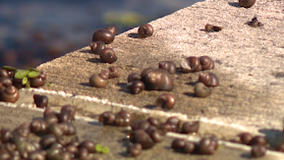
<svg viewBox="0 0 284 160">
<path fill-rule="evenodd" d="M 14 106 L 33 108 L 32 95 L 40 93 L 49 97 L 51 107 L 60 109 L 63 104 L 73 104 L 80 116 L 97 118 L 103 111 L 120 109 L 130 111 L 137 119 L 178 116 L 184 121 L 200 120 L 201 129 L 197 136 L 215 134 L 228 140 L 240 132 L 250 131 L 265 135 L 273 145 L 277 145 L 282 141 L 284 111 L 284 76 L 281 76 L 284 72 L 283 5 L 283 1 L 258 0 L 253 7 L 245 9 L 240 8 L 236 0 L 196 3 L 150 22 L 155 30 L 152 37 L 135 38 L 137 28 L 116 36 L 108 45 L 118 57 L 113 64 L 101 63 L 99 55 L 91 54 L 90 48 L 84 47 L 40 65 L 38 69 L 47 72 L 47 84 L 43 89 L 21 90 L 21 97 Z M 264 24 L 263 27 L 252 28 L 245 24 L 255 15 Z M 207 33 L 204 31 L 207 23 L 224 28 L 220 32 Z M 127 89 L 130 73 L 140 73 L 147 67 L 157 68 L 159 61 L 163 60 L 173 60 L 179 67 L 182 58 L 202 55 L 215 61 L 215 69 L 211 72 L 220 80 L 220 86 L 214 88 L 213 94 L 207 98 L 197 98 L 193 94 L 193 84 L 199 73 L 178 72 L 173 75 L 175 88 L 170 93 L 176 98 L 176 106 L 167 112 L 147 108 L 154 105 L 156 98 L 165 91 L 143 91 L 132 95 Z M 111 79 L 106 88 L 90 87 L 89 77 L 109 66 L 117 66 L 120 77 Z M 100 126 L 96 132 L 104 130 L 114 139 L 123 137 L 111 127 Z M 92 138 L 98 141 L 105 139 L 102 143 L 109 147 L 118 145 L 117 141 L 108 140 L 107 134 Z M 153 150 L 143 152 L 138 159 L 188 158 L 187 155 L 167 151 L 168 142 L 166 140 Z M 114 149 L 118 150 L 107 159 L 123 159 L 123 154 L 117 154 L 122 151 L 121 146 Z M 227 147 L 221 150 L 214 156 L 190 157 L 218 160 L 249 158 L 247 152 Z M 157 156 L 156 153 L 160 152 L 162 154 Z M 282 153 L 279 155 L 283 158 Z M 276 158 L 268 155 L 263 159 Z"/>
</svg>

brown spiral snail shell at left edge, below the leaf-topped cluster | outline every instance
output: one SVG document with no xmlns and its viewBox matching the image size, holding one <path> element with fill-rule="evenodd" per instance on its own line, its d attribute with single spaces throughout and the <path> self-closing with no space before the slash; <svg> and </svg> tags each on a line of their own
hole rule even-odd
<svg viewBox="0 0 284 160">
<path fill-rule="evenodd" d="M 11 85 L 1 92 L 1 100 L 5 102 L 16 102 L 19 99 L 19 90 Z"/>
</svg>

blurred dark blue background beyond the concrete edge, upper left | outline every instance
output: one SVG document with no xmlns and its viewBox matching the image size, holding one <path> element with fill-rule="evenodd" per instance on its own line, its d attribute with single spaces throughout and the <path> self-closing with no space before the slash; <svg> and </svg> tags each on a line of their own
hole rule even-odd
<svg viewBox="0 0 284 160">
<path fill-rule="evenodd" d="M 198 1 L 1 0 L 0 66 L 36 67 L 89 45 L 99 28 L 119 34 Z"/>
</svg>

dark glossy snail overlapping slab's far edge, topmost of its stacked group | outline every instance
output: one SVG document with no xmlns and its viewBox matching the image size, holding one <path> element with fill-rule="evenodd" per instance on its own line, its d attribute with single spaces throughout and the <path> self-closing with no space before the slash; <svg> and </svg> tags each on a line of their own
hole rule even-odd
<svg viewBox="0 0 284 160">
<path fill-rule="evenodd" d="M 114 40 L 114 34 L 107 29 L 99 29 L 93 34 L 92 42 L 103 41 L 106 44 Z"/>
</svg>

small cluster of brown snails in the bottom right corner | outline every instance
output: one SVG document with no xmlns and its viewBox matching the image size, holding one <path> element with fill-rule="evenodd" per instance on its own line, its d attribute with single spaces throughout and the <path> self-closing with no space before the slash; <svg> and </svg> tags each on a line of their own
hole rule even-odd
<svg viewBox="0 0 284 160">
<path fill-rule="evenodd" d="M 268 146 L 267 140 L 263 136 L 253 136 L 249 132 L 238 134 L 232 142 L 241 143 L 251 146 L 251 156 L 261 157 L 266 153 L 266 147 Z M 276 150 L 281 151 L 281 144 L 277 146 Z"/>
</svg>

